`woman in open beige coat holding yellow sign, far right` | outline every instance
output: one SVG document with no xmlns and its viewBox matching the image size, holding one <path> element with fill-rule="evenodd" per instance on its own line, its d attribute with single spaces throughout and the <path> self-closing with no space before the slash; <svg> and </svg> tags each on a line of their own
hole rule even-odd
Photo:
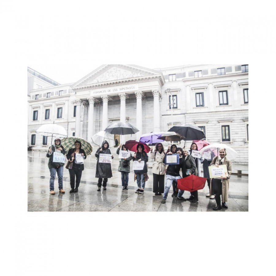
<svg viewBox="0 0 276 276">
<path fill-rule="evenodd" d="M 226 165 L 228 176 L 220 176 L 219 178 L 212 178 L 210 184 L 210 193 L 215 195 L 217 206 L 213 210 L 220 210 L 221 207 L 228 208 L 226 201 L 228 201 L 228 189 L 229 189 L 229 178 L 232 172 L 232 162 L 226 157 L 225 148 L 221 148 L 219 151 L 220 155 L 213 158 L 210 166 Z M 220 201 L 220 195 L 222 197 L 222 204 Z"/>
</svg>

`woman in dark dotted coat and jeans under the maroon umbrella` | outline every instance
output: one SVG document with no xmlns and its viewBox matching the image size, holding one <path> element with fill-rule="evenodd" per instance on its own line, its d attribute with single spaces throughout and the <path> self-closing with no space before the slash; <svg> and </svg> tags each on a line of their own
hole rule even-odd
<svg viewBox="0 0 276 276">
<path fill-rule="evenodd" d="M 147 172 L 148 172 L 148 166 L 147 166 L 147 162 L 148 162 L 148 155 L 145 152 L 145 148 L 143 144 L 138 144 L 137 145 L 137 151 L 134 153 L 133 155 L 133 161 L 144 161 L 144 167 L 143 170 L 134 170 L 134 181 L 135 179 L 137 180 L 137 186 L 138 189 L 135 191 L 136 193 L 140 193 L 140 194 L 144 194 L 144 188 L 146 185 L 146 178 L 148 176 Z"/>
</svg>

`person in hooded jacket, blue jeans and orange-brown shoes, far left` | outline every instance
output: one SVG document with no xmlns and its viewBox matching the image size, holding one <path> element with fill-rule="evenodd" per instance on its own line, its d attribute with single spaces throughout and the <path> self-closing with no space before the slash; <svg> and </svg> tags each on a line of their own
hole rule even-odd
<svg viewBox="0 0 276 276">
<path fill-rule="evenodd" d="M 55 194 L 54 182 L 55 182 L 55 178 L 56 178 L 56 173 L 59 178 L 59 192 L 62 194 L 65 193 L 65 191 L 63 190 L 63 166 L 64 166 L 64 163 L 53 162 L 54 152 L 59 152 L 59 153 L 65 154 L 65 150 L 64 150 L 63 146 L 60 144 L 60 142 L 61 142 L 60 138 L 56 138 L 54 141 L 54 144 L 51 145 L 51 147 L 48 149 L 48 152 L 46 154 L 46 156 L 49 158 L 48 168 L 50 171 L 50 194 Z"/>
</svg>

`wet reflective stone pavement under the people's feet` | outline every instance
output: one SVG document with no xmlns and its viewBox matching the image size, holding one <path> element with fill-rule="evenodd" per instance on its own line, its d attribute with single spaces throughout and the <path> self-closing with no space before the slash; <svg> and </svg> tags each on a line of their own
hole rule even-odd
<svg viewBox="0 0 276 276">
<path fill-rule="evenodd" d="M 85 160 L 85 169 L 82 172 L 79 192 L 69 193 L 71 190 L 69 172 L 64 167 L 63 189 L 65 194 L 60 194 L 58 190 L 57 176 L 55 179 L 55 195 L 49 194 L 50 173 L 48 169 L 48 158 L 45 152 L 28 151 L 28 211 L 38 212 L 215 212 L 214 199 L 209 199 L 206 194 L 209 189 L 206 185 L 204 189 L 198 191 L 199 201 L 180 201 L 171 197 L 172 187 L 169 191 L 166 204 L 161 204 L 163 196 L 155 196 L 152 192 L 152 173 L 148 169 L 149 180 L 146 182 L 144 194 L 137 194 L 136 182 L 134 182 L 133 171 L 129 174 L 128 190 L 122 190 L 121 173 L 117 171 L 119 159 L 116 149 L 112 148 L 114 156 L 112 164 L 113 177 L 108 179 L 107 189 L 97 191 L 98 178 L 95 178 L 96 157 L 94 154 Z M 150 164 L 149 164 L 150 165 Z M 248 166 L 242 166 L 242 173 L 248 173 Z M 240 169 L 233 163 L 233 171 Z M 190 192 L 185 191 L 184 197 L 189 197 Z M 233 174 L 229 185 L 228 209 L 217 212 L 247 212 L 248 211 L 248 176 Z"/>
</svg>

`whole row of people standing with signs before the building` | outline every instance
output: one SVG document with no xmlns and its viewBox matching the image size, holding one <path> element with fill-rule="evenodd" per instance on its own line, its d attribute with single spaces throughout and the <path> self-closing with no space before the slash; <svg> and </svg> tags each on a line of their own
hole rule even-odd
<svg viewBox="0 0 276 276">
<path fill-rule="evenodd" d="M 50 171 L 50 194 L 55 194 L 54 192 L 54 179 L 56 177 L 56 173 L 58 175 L 58 183 L 59 183 L 59 192 L 64 193 L 63 190 L 63 166 L 64 163 L 56 163 L 53 162 L 53 152 L 60 152 L 65 154 L 65 150 L 63 146 L 60 144 L 61 140 L 59 138 L 55 139 L 54 144 L 49 148 L 47 157 L 49 158 L 48 167 Z M 132 156 L 131 152 L 127 149 L 125 145 L 120 144 L 117 148 L 117 154 L 120 154 L 120 150 L 128 151 L 128 157 L 121 158 L 119 161 L 118 171 L 121 172 L 121 182 L 122 189 L 128 190 L 128 174 L 130 173 L 130 161 L 141 162 L 144 161 L 144 166 L 140 170 L 134 170 L 134 181 L 137 183 L 136 193 L 143 194 L 145 188 L 145 182 L 148 180 L 148 154 L 144 150 L 143 144 L 137 145 L 137 151 Z M 221 148 L 219 150 L 219 156 L 213 157 L 212 161 L 203 159 L 203 158 L 195 158 L 192 157 L 191 153 L 193 150 L 197 150 L 197 144 L 192 143 L 190 150 L 186 150 L 186 148 L 177 147 L 175 144 L 171 145 L 167 149 L 165 153 L 163 144 L 157 143 L 155 149 L 151 148 L 150 157 L 153 160 L 152 164 L 152 175 L 153 175 L 153 193 L 155 195 L 162 195 L 163 199 L 161 203 L 165 204 L 167 200 L 167 196 L 171 186 L 173 186 L 173 194 L 172 197 L 177 197 L 177 199 L 186 201 L 189 200 L 191 202 L 198 201 L 198 191 L 190 192 L 189 198 L 184 198 L 183 193 L 184 190 L 180 190 L 177 188 L 177 180 L 180 178 L 185 178 L 189 175 L 197 175 L 201 174 L 201 163 L 203 163 L 203 174 L 204 177 L 207 178 L 207 183 L 209 187 L 209 194 L 206 197 L 210 199 L 215 199 L 217 206 L 213 208 L 213 210 L 220 210 L 223 208 L 228 208 L 226 202 L 228 201 L 228 189 L 229 189 L 229 178 L 232 172 L 232 162 L 227 159 L 226 149 Z M 68 167 L 69 175 L 70 175 L 70 193 L 78 192 L 82 171 L 84 170 L 83 162 L 76 161 L 76 154 L 82 155 L 83 159 L 86 159 L 86 154 L 84 150 L 81 148 L 81 142 L 75 141 L 75 148 L 71 148 L 66 157 L 70 161 L 70 165 Z M 110 163 L 101 163 L 99 162 L 100 154 L 109 154 L 111 155 L 109 149 L 109 143 L 105 140 L 102 143 L 102 147 L 98 148 L 95 153 L 97 157 L 97 165 L 96 165 L 96 175 L 98 178 L 98 191 L 106 190 L 108 178 L 112 177 L 112 169 Z M 178 164 L 169 164 L 165 165 L 164 159 L 166 155 L 178 154 L 179 155 L 179 163 Z M 113 155 L 111 155 L 113 159 Z M 69 163 L 69 162 L 68 162 Z M 210 178 L 209 176 L 209 166 L 219 166 L 226 165 L 228 175 L 220 176 L 218 178 Z M 180 175 L 180 169 L 182 170 L 182 177 Z M 166 184 L 165 184 L 165 174 L 166 174 Z M 222 201 L 220 199 L 220 195 L 222 196 Z"/>
</svg>

